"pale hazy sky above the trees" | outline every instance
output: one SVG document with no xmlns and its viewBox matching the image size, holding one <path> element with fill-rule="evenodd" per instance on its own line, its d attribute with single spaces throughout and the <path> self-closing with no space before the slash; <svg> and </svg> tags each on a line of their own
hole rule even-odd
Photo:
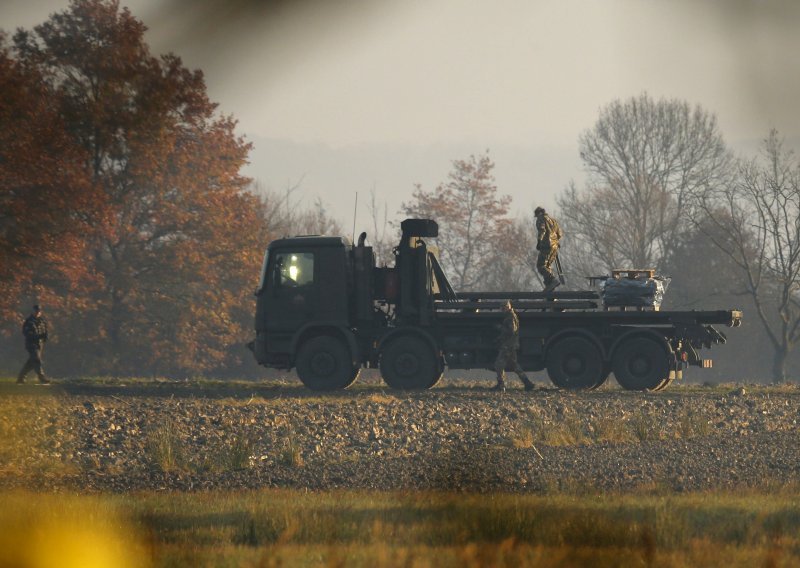
<svg viewBox="0 0 800 568">
<path fill-rule="evenodd" d="M 206 73 L 254 142 L 247 172 L 321 197 L 345 226 L 355 192 L 390 213 L 413 184 L 490 150 L 516 212 L 581 181 L 577 140 L 604 105 L 647 91 L 716 113 L 753 151 L 800 150 L 800 1 L 122 0 Z M 31 27 L 66 0 L 0 0 Z M 359 216 L 364 211 L 359 212 Z"/>
</svg>

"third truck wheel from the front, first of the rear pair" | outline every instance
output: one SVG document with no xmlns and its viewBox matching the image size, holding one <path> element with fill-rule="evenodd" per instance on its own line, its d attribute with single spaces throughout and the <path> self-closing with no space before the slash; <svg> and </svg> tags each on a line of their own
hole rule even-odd
<svg viewBox="0 0 800 568">
<path fill-rule="evenodd" d="M 550 380 L 562 389 L 595 389 L 608 377 L 600 350 L 581 336 L 565 337 L 548 347 L 545 366 Z"/>
</svg>

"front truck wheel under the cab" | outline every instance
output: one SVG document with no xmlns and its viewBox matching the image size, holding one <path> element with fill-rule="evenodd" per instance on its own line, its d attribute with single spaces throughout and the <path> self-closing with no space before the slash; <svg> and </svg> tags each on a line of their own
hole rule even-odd
<svg viewBox="0 0 800 568">
<path fill-rule="evenodd" d="M 297 375 L 314 391 L 345 389 L 358 378 L 350 350 L 343 341 L 329 335 L 312 337 L 300 346 L 295 361 Z"/>
</svg>

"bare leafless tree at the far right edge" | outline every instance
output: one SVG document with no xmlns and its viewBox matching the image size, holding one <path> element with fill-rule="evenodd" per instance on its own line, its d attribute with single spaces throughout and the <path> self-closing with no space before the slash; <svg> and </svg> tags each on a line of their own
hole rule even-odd
<svg viewBox="0 0 800 568">
<path fill-rule="evenodd" d="M 710 188 L 697 210 L 699 229 L 741 269 L 774 349 L 773 378 L 785 381 L 800 340 L 800 162 L 773 130 L 762 155 L 741 161 L 735 182 Z"/>
</svg>

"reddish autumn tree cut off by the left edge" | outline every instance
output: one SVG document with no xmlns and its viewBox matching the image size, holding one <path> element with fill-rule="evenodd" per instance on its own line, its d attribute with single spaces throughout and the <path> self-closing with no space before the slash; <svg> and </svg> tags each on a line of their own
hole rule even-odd
<svg viewBox="0 0 800 568">
<path fill-rule="evenodd" d="M 4 43 L 0 34 L 0 322 L 16 327 L 20 307 L 65 307 L 96 282 L 87 236 L 104 208 L 44 78 Z"/>
</svg>

